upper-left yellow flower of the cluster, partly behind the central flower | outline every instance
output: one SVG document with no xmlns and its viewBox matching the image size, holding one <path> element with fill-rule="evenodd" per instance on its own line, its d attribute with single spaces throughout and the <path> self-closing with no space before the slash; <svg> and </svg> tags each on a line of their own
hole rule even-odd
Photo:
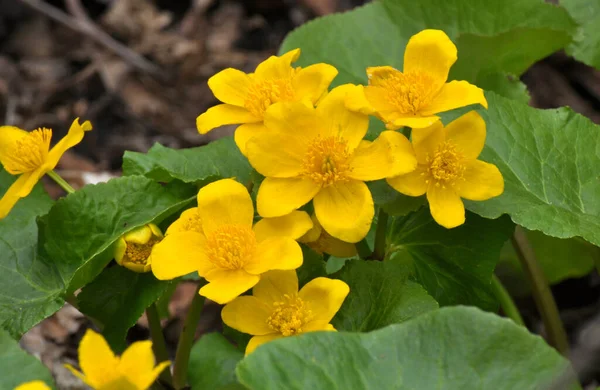
<svg viewBox="0 0 600 390">
<path fill-rule="evenodd" d="M 263 127 L 265 111 L 277 102 L 306 101 L 315 104 L 337 75 L 327 64 L 293 68 L 300 49 L 281 57 L 271 56 L 260 63 L 254 73 L 225 69 L 208 80 L 216 98 L 224 104 L 214 106 L 196 119 L 198 131 L 208 133 L 215 127 L 242 123 L 235 132 L 235 142 L 246 155 L 246 142 Z"/>
</svg>

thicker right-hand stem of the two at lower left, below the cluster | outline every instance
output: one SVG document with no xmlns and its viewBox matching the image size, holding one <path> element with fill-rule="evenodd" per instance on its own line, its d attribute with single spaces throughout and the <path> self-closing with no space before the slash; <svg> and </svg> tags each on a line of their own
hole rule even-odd
<svg viewBox="0 0 600 390">
<path fill-rule="evenodd" d="M 198 286 L 200 290 L 200 286 Z M 188 310 L 187 317 L 179 335 L 179 343 L 177 343 L 177 353 L 175 354 L 175 367 L 173 369 L 173 387 L 180 390 L 183 389 L 187 382 L 187 369 L 190 360 L 190 351 L 194 343 L 194 335 L 196 327 L 200 320 L 200 313 L 204 306 L 204 297 L 198 294 L 198 290 L 194 294 L 194 299 Z"/>
</svg>

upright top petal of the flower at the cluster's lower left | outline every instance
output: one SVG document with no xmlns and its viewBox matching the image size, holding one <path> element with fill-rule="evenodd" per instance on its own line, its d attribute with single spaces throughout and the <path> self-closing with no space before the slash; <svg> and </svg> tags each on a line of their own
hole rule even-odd
<svg viewBox="0 0 600 390">
<path fill-rule="evenodd" d="M 246 187 L 232 179 L 218 180 L 198 191 L 198 212 L 207 236 L 223 225 L 251 227 L 254 205 Z"/>
</svg>

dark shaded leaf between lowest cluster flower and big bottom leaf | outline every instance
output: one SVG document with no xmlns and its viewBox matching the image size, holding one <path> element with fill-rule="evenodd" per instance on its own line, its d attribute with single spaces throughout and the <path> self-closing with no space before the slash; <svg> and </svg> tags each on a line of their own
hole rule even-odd
<svg viewBox="0 0 600 390">
<path fill-rule="evenodd" d="M 330 276 L 350 286 L 332 321 L 337 330 L 366 332 L 400 323 L 438 308 L 419 284 L 407 280 L 409 270 L 400 261 L 351 260 Z"/>
</svg>

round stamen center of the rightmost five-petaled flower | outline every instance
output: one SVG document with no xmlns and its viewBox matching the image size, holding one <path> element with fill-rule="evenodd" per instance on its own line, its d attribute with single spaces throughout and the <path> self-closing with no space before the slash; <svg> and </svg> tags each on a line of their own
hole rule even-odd
<svg viewBox="0 0 600 390">
<path fill-rule="evenodd" d="M 441 144 L 433 157 L 427 157 L 427 164 L 430 177 L 438 182 L 436 184 L 441 182 L 442 186 L 461 180 L 466 169 L 462 154 L 449 141 Z"/>
</svg>

